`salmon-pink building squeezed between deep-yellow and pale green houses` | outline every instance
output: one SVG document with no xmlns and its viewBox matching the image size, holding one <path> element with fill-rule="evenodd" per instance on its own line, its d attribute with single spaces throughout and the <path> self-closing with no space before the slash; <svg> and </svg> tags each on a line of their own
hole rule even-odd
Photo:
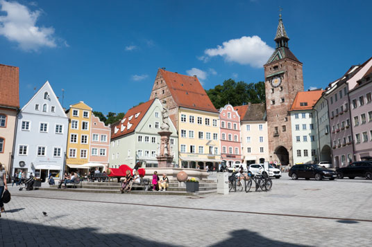
<svg viewBox="0 0 372 247">
<path fill-rule="evenodd" d="M 90 136 L 90 163 L 108 165 L 110 154 L 110 126 L 105 126 L 99 118 L 92 114 L 92 131 Z"/>
</svg>

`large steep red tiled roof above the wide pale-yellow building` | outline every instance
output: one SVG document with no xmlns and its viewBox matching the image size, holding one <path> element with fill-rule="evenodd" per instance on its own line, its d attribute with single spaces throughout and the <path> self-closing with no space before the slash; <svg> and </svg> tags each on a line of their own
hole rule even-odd
<svg viewBox="0 0 372 247">
<path fill-rule="evenodd" d="M 178 107 L 217 112 L 197 77 L 159 70 Z"/>
</svg>

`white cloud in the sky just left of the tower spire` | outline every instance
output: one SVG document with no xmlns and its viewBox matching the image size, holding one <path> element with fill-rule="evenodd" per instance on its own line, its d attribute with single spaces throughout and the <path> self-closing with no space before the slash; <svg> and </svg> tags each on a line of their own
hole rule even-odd
<svg viewBox="0 0 372 247">
<path fill-rule="evenodd" d="M 261 68 L 273 51 L 274 49 L 263 42 L 260 37 L 256 35 L 243 36 L 223 42 L 222 46 L 217 46 L 217 48 L 205 50 L 205 55 L 198 57 L 198 59 L 207 62 L 210 57 L 221 56 L 228 62 L 249 64 L 255 68 Z"/>
</svg>

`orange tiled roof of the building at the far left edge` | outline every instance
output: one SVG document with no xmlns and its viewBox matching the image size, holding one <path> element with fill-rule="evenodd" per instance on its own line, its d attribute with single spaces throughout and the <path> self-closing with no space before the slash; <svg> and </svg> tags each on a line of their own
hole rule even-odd
<svg viewBox="0 0 372 247">
<path fill-rule="evenodd" d="M 19 68 L 0 64 L 0 106 L 19 108 Z"/>
</svg>

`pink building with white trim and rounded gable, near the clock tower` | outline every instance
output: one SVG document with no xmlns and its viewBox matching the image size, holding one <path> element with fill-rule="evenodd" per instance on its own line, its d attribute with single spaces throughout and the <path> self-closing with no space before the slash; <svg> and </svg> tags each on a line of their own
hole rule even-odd
<svg viewBox="0 0 372 247">
<path fill-rule="evenodd" d="M 242 164 L 240 116 L 231 104 L 219 109 L 221 159 L 228 167 Z"/>
</svg>

